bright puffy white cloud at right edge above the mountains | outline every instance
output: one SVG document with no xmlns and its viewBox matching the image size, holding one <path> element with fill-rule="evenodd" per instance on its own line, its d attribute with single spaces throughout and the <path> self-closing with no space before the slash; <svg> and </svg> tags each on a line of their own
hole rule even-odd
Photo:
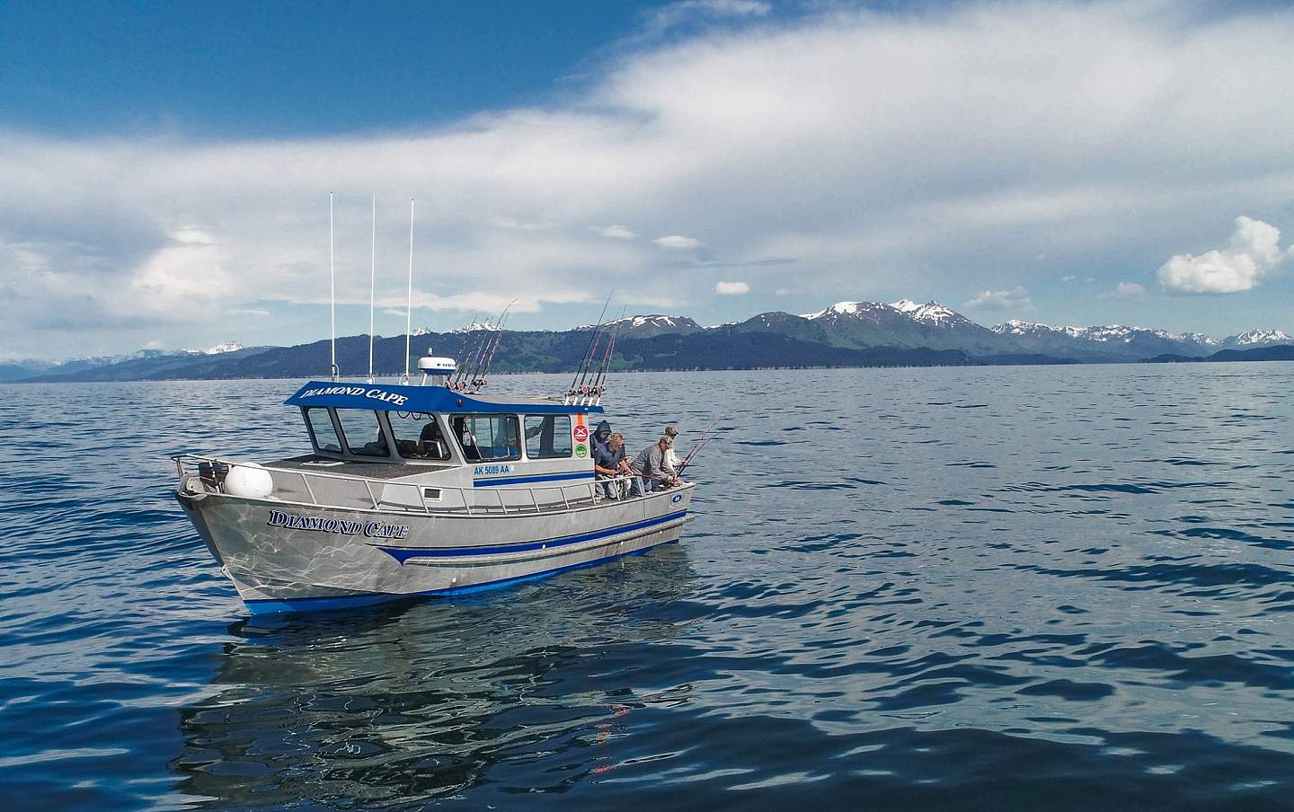
<svg viewBox="0 0 1294 812">
<path fill-rule="evenodd" d="M 1159 284 L 1171 294 L 1238 294 L 1258 287 L 1262 278 L 1294 255 L 1282 252 L 1281 233 L 1251 217 L 1236 217 L 1225 248 L 1200 256 L 1178 253 L 1159 268 Z"/>
</svg>

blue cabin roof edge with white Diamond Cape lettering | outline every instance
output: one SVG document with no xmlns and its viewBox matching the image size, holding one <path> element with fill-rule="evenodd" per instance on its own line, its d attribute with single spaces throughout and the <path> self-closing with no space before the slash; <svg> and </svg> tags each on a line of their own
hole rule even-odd
<svg viewBox="0 0 1294 812">
<path fill-rule="evenodd" d="M 326 406 L 377 411 L 477 412 L 477 414 L 600 414 L 602 406 L 568 405 L 547 398 L 498 401 L 454 392 L 448 387 L 408 384 L 355 384 L 312 380 L 285 401 L 289 406 Z"/>
</svg>

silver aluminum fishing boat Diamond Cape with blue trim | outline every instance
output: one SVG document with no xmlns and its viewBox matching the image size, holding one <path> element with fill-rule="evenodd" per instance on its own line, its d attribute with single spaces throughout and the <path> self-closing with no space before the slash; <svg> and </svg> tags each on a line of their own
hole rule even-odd
<svg viewBox="0 0 1294 812">
<path fill-rule="evenodd" d="M 411 203 L 409 266 L 411 312 Z M 417 384 L 411 317 L 400 383 L 375 383 L 371 326 L 367 379 L 339 380 L 334 318 L 330 380 L 286 401 L 308 454 L 172 458 L 176 499 L 252 614 L 494 588 L 679 538 L 694 485 L 595 480 L 590 422 L 619 325 L 599 317 L 564 394 L 488 397 L 506 315 L 465 340 L 462 365 L 428 350 Z"/>
</svg>

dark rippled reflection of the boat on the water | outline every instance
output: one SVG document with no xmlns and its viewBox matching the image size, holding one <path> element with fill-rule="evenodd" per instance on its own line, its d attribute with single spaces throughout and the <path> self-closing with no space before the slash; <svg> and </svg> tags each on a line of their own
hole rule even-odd
<svg viewBox="0 0 1294 812">
<path fill-rule="evenodd" d="M 181 710 L 175 789 L 361 808 L 562 791 L 608 768 L 628 714 L 686 700 L 668 666 L 694 579 L 668 544 L 506 593 L 236 623 L 223 690 Z"/>
</svg>

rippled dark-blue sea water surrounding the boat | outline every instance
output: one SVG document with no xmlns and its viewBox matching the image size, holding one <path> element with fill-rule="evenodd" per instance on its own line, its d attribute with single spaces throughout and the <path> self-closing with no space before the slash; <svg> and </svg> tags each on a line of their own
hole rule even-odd
<svg viewBox="0 0 1294 812">
<path fill-rule="evenodd" d="M 682 543 L 252 621 L 166 456 L 298 383 L 0 387 L 0 806 L 1294 808 L 1294 365 L 625 375 Z"/>
</svg>

